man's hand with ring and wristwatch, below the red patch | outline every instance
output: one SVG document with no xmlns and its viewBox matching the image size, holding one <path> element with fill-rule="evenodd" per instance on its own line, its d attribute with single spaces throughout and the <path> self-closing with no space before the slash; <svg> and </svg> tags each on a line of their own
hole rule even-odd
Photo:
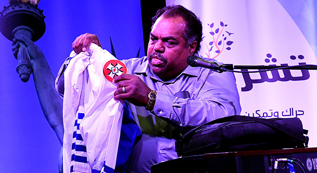
<svg viewBox="0 0 317 173">
<path fill-rule="evenodd" d="M 127 100 L 136 106 L 147 106 L 148 93 L 151 92 L 151 89 L 139 77 L 123 74 L 114 78 L 113 82 L 118 85 L 114 91 L 115 99 Z M 122 87 L 125 87 L 125 92 L 123 92 Z"/>
</svg>

